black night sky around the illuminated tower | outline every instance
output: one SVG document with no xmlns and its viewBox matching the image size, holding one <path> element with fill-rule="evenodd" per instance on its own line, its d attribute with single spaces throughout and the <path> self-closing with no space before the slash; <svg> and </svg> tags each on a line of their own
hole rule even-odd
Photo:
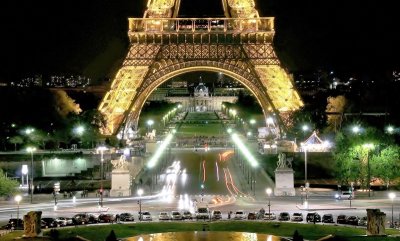
<svg viewBox="0 0 400 241">
<path fill-rule="evenodd" d="M 36 73 L 107 75 L 124 57 L 141 0 L 15 0 L 3 8 L 0 81 Z M 276 17 L 274 44 L 291 71 L 399 69 L 396 1 L 257 0 Z M 5 11 L 4 11 L 5 10 Z M 219 16 L 219 0 L 182 0 L 180 15 Z M 4 32 L 3 32 L 4 33 Z M 5 61 L 4 61 L 5 60 Z M 97 71 L 99 72 L 99 71 Z"/>
</svg>

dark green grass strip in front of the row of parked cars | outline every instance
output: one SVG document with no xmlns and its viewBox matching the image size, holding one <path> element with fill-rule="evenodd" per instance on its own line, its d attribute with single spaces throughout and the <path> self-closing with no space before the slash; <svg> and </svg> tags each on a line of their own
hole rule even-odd
<svg viewBox="0 0 400 241">
<path fill-rule="evenodd" d="M 298 223 L 276 223 L 276 222 L 241 222 L 241 221 L 222 221 L 208 223 L 209 231 L 237 231 L 237 232 L 254 232 L 267 233 L 283 237 L 291 237 L 295 230 L 305 239 L 317 240 L 329 234 L 340 236 L 341 240 L 358 241 L 358 240 L 390 240 L 398 241 L 400 237 L 362 237 L 365 229 L 333 226 L 333 225 L 313 225 Z M 162 222 L 162 223 L 135 223 L 135 224 L 114 224 L 104 226 L 82 226 L 76 228 L 59 229 L 59 240 L 67 240 L 77 235 L 89 240 L 104 240 L 105 237 L 114 230 L 118 238 L 132 237 L 139 234 L 162 233 L 162 232 L 179 232 L 179 231 L 201 231 L 203 222 Z M 397 234 L 398 230 L 386 230 L 387 234 Z M 13 240 L 22 234 L 20 231 L 13 232 L 1 238 L 2 241 Z M 45 235 L 48 231 L 45 232 Z M 39 239 L 37 239 L 39 240 Z"/>
</svg>

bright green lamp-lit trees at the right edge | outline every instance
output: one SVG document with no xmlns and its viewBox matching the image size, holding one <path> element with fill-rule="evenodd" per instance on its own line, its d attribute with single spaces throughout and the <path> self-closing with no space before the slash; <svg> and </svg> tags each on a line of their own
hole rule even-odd
<svg viewBox="0 0 400 241">
<path fill-rule="evenodd" d="M 340 131 L 334 150 L 336 177 L 339 183 L 368 188 L 369 183 L 387 187 L 400 177 L 400 147 L 393 136 L 368 127 L 358 132 Z"/>
</svg>

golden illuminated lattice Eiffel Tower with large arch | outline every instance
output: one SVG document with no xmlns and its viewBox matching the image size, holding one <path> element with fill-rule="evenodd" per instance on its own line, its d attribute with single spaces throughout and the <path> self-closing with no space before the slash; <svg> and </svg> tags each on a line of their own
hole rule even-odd
<svg viewBox="0 0 400 241">
<path fill-rule="evenodd" d="M 265 120 L 303 106 L 272 45 L 274 18 L 260 17 L 254 0 L 222 0 L 222 6 L 224 18 L 178 18 L 180 0 L 148 0 L 143 18 L 129 18 L 129 52 L 98 108 L 106 118 L 104 135 L 135 130 L 151 92 L 193 71 L 239 81 Z"/>
</svg>

